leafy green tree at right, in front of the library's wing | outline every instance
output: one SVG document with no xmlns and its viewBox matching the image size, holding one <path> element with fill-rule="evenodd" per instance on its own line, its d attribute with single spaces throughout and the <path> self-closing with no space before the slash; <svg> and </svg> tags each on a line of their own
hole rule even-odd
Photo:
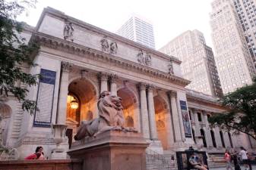
<svg viewBox="0 0 256 170">
<path fill-rule="evenodd" d="M 229 110 L 211 116 L 209 122 L 227 131 L 243 132 L 256 140 L 256 79 L 251 85 L 226 94 L 220 102 Z"/>
</svg>

